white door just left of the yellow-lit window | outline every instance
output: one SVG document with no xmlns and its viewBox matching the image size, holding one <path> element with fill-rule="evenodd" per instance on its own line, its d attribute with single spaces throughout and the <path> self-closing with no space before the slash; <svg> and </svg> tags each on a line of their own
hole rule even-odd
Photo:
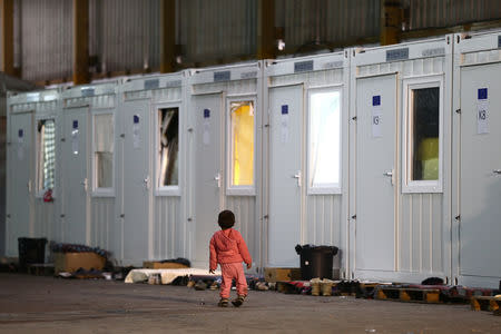
<svg viewBox="0 0 501 334">
<path fill-rule="evenodd" d="M 196 96 L 193 110 L 196 118 L 193 262 L 195 266 L 208 267 L 209 240 L 219 229 L 217 215 L 223 206 L 225 187 L 222 163 L 223 96 Z"/>
</svg>

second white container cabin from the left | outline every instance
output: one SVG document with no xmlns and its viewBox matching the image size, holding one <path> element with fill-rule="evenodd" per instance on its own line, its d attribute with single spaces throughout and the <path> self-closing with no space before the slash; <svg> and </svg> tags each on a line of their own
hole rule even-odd
<svg viewBox="0 0 501 334">
<path fill-rule="evenodd" d="M 115 250 L 117 88 L 110 81 L 61 94 L 59 242 Z"/>
</svg>

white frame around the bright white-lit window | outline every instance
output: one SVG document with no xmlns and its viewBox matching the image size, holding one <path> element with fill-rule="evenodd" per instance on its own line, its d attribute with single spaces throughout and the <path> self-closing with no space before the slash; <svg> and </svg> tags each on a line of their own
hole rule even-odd
<svg viewBox="0 0 501 334">
<path fill-rule="evenodd" d="M 313 163 L 312 163 L 312 109 L 311 101 L 312 95 L 322 94 L 322 92 L 338 92 L 340 95 L 340 174 L 338 174 L 338 183 L 325 184 L 322 186 L 313 186 Z M 307 195 L 340 195 L 342 194 L 342 185 L 343 185 L 343 86 L 335 85 L 322 88 L 310 88 L 306 97 L 306 112 L 307 112 L 307 128 L 306 128 L 306 170 L 307 170 Z"/>
</svg>

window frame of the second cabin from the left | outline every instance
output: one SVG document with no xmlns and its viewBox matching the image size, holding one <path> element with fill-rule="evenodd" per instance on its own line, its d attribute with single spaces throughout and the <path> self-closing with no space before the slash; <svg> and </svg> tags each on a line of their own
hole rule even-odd
<svg viewBox="0 0 501 334">
<path fill-rule="evenodd" d="M 109 188 L 102 188 L 97 186 L 97 166 L 96 166 L 96 116 L 98 115 L 111 115 L 112 118 L 112 125 L 114 125 L 114 153 L 112 153 L 112 159 L 111 159 L 111 187 Z M 114 109 L 100 109 L 100 110 L 92 110 L 90 112 L 90 121 L 91 121 L 91 134 L 90 134 L 90 140 L 91 140 L 91 154 L 90 154 L 90 170 L 91 170 L 91 183 L 92 183 L 92 197 L 115 197 L 115 178 L 116 178 L 116 159 L 117 159 L 117 118 L 115 115 Z"/>
</svg>

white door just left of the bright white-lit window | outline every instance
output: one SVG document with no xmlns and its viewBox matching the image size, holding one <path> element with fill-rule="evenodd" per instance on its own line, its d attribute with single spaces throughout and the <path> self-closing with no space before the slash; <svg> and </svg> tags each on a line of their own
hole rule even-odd
<svg viewBox="0 0 501 334">
<path fill-rule="evenodd" d="M 294 247 L 302 232 L 302 85 L 269 92 L 269 218 L 268 266 L 298 267 Z"/>
</svg>

